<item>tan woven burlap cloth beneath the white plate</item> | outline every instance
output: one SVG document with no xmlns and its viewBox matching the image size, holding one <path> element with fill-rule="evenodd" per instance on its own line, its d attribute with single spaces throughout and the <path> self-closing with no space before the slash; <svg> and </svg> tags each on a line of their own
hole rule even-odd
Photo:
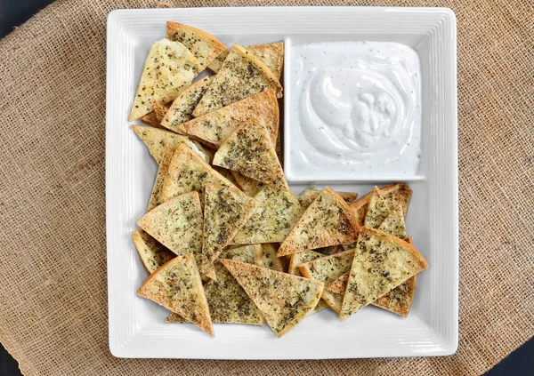
<svg viewBox="0 0 534 376">
<path fill-rule="evenodd" d="M 156 1 L 58 1 L 0 41 L 0 340 L 26 375 L 480 374 L 534 334 L 534 3 L 457 14 L 460 342 L 455 356 L 128 360 L 109 354 L 104 214 L 106 15 Z"/>
</svg>

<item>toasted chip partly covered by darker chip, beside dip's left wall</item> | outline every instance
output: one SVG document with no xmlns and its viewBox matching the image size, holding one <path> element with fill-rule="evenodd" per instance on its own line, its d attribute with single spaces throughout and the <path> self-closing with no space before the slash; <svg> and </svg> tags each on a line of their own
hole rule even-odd
<svg viewBox="0 0 534 376">
<path fill-rule="evenodd" d="M 279 105 L 274 90 L 260 92 L 230 106 L 209 112 L 180 124 L 176 130 L 219 146 L 249 118 L 263 119 L 271 140 L 276 140 L 279 132 Z"/>
</svg>

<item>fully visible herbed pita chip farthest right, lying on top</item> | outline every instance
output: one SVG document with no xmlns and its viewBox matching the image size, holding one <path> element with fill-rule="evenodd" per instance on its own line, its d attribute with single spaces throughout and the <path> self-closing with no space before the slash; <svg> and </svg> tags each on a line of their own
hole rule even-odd
<svg viewBox="0 0 534 376">
<path fill-rule="evenodd" d="M 428 268 L 412 245 L 373 228 L 361 228 L 355 251 L 341 320 Z"/>
</svg>

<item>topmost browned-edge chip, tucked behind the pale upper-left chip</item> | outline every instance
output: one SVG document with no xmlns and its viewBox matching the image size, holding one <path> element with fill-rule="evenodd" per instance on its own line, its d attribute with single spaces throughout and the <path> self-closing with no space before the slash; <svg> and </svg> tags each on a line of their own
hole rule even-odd
<svg viewBox="0 0 534 376">
<path fill-rule="evenodd" d="M 198 28 L 167 21 L 167 39 L 185 44 L 197 58 L 195 76 L 202 72 L 226 46 L 214 36 Z"/>
</svg>

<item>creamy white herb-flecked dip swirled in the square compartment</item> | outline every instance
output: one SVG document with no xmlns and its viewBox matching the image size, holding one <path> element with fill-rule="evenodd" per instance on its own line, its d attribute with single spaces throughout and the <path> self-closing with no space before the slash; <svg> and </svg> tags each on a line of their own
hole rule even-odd
<svg viewBox="0 0 534 376">
<path fill-rule="evenodd" d="M 292 46 L 292 175 L 414 175 L 421 158 L 417 52 L 405 44 Z"/>
</svg>

